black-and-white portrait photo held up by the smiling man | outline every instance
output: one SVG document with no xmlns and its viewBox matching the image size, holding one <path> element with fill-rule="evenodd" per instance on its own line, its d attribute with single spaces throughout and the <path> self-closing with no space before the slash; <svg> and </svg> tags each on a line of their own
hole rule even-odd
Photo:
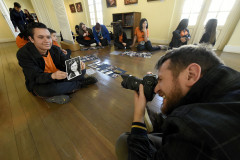
<svg viewBox="0 0 240 160">
<path fill-rule="evenodd" d="M 82 74 L 80 56 L 65 61 L 67 79 L 71 80 Z"/>
</svg>

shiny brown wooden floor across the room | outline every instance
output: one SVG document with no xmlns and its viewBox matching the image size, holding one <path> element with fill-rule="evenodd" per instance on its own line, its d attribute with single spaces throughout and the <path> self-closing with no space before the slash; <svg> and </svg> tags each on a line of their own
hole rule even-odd
<svg viewBox="0 0 240 160">
<path fill-rule="evenodd" d="M 72 56 L 97 54 L 103 62 L 142 77 L 164 55 L 159 51 L 144 59 L 110 55 L 113 50 Z M 27 91 L 16 52 L 15 43 L 0 44 L 0 160 L 115 160 L 115 142 L 130 131 L 133 115 L 133 92 L 121 87 L 121 78 L 97 72 L 99 82 L 73 94 L 70 103 L 46 103 Z M 240 71 L 240 54 L 217 54 Z"/>
</svg>

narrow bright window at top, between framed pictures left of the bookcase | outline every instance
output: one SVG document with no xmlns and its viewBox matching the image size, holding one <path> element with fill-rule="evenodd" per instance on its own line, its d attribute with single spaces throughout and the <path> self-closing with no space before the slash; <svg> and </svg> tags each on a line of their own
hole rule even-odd
<svg viewBox="0 0 240 160">
<path fill-rule="evenodd" d="M 103 24 L 102 0 L 88 0 L 91 25 Z"/>
</svg>

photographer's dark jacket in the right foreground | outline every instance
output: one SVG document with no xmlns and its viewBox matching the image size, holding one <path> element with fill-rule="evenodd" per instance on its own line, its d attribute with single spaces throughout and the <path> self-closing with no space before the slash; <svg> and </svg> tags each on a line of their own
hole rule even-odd
<svg viewBox="0 0 240 160">
<path fill-rule="evenodd" d="M 129 159 L 238 160 L 239 79 L 240 73 L 231 68 L 212 68 L 165 119 L 160 149 L 149 141 L 145 130 L 132 129 L 128 137 Z"/>
</svg>

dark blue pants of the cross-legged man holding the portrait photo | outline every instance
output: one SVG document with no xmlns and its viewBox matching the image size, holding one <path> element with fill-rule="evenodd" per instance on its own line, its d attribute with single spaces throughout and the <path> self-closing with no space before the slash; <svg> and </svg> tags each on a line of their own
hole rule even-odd
<svg viewBox="0 0 240 160">
<path fill-rule="evenodd" d="M 33 93 L 42 98 L 48 98 L 53 96 L 65 95 L 73 93 L 74 91 L 82 88 L 84 75 L 86 70 L 82 70 L 82 74 L 71 80 L 57 80 L 53 83 L 35 85 Z"/>
</svg>

